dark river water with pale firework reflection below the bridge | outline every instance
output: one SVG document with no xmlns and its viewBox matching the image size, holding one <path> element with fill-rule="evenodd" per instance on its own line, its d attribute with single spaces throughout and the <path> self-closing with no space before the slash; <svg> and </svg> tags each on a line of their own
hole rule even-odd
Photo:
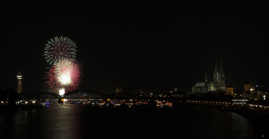
<svg viewBox="0 0 269 139">
<path fill-rule="evenodd" d="M 203 107 L 104 107 L 65 103 L 2 113 L 0 138 L 254 138 L 251 123 Z"/>
</svg>

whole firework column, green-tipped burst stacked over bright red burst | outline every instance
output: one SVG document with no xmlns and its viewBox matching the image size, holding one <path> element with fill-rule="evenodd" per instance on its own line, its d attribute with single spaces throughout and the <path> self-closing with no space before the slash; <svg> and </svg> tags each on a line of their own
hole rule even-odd
<svg viewBox="0 0 269 139">
<path fill-rule="evenodd" d="M 51 38 L 43 49 L 42 57 L 49 64 L 45 83 L 60 95 L 72 91 L 81 83 L 82 64 L 76 59 L 77 45 L 67 37 Z"/>
</svg>

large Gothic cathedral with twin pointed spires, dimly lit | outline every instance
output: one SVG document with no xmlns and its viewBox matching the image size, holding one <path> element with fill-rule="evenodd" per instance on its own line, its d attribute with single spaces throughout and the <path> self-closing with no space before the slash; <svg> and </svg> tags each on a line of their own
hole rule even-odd
<svg viewBox="0 0 269 139">
<path fill-rule="evenodd" d="M 217 61 L 216 61 L 213 81 L 211 82 L 207 81 L 207 72 L 206 72 L 204 82 L 197 82 L 197 84 L 195 84 L 192 87 L 192 93 L 207 93 L 209 91 L 217 91 L 217 90 L 226 91 L 226 86 L 225 86 L 225 76 L 222 70 L 222 64 L 220 63 L 220 69 L 219 71 L 217 71 Z"/>
</svg>

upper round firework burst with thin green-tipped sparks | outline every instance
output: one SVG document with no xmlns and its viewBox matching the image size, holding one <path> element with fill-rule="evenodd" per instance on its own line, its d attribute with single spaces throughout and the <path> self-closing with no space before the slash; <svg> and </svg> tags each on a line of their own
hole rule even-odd
<svg viewBox="0 0 269 139">
<path fill-rule="evenodd" d="M 54 64 L 57 60 L 69 58 L 74 60 L 77 55 L 77 44 L 67 37 L 54 37 L 47 41 L 44 52 L 45 61 L 48 64 Z"/>
</svg>

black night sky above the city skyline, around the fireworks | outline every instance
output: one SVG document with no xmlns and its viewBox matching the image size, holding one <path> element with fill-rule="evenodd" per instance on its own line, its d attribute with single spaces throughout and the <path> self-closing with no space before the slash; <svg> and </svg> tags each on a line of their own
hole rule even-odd
<svg viewBox="0 0 269 139">
<path fill-rule="evenodd" d="M 21 71 L 22 91 L 47 92 L 40 50 L 54 36 L 79 45 L 80 90 L 187 93 L 205 72 L 212 81 L 216 60 L 226 86 L 269 89 L 268 13 L 268 1 L 1 3 L 0 89 Z"/>
</svg>

